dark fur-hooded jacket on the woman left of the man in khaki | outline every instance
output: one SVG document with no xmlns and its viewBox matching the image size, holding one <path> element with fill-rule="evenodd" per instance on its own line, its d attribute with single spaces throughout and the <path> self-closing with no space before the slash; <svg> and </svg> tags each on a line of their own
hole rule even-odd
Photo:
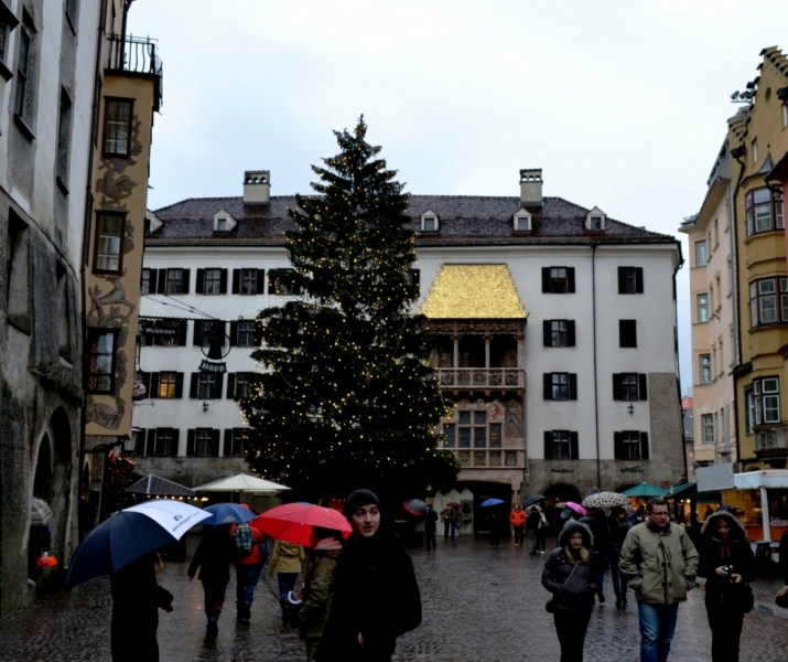
<svg viewBox="0 0 788 662">
<path fill-rule="evenodd" d="M 582 563 L 570 558 L 566 545 L 573 533 L 583 534 L 583 546 L 589 551 L 591 560 Z M 594 595 L 598 590 L 596 578 L 600 574 L 598 557 L 592 552 L 594 536 L 585 524 L 570 520 L 558 536 L 558 548 L 553 549 L 544 562 L 542 586 L 555 598 L 559 611 L 584 611 L 594 606 Z M 577 567 L 575 568 L 575 562 Z M 572 572 L 574 569 L 574 573 Z"/>
</svg>

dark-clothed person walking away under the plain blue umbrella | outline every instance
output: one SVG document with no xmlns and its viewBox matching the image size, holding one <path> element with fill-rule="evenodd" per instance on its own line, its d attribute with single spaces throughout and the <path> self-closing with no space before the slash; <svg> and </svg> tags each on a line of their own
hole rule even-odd
<svg viewBox="0 0 788 662">
<path fill-rule="evenodd" d="M 228 525 L 208 526 L 186 570 L 188 580 L 192 581 L 199 568 L 197 578 L 203 583 L 205 591 L 208 634 L 216 634 L 219 630 L 219 616 L 225 606 L 225 591 L 230 580 L 230 560 L 234 551 L 235 545 Z"/>
</svg>

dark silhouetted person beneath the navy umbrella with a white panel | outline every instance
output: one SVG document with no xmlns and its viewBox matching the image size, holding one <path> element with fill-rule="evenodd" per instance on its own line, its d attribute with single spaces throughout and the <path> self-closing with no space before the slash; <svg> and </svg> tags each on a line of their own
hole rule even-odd
<svg viewBox="0 0 788 662">
<path fill-rule="evenodd" d="M 172 611 L 172 594 L 156 583 L 155 553 L 109 576 L 112 591 L 112 662 L 159 662 L 159 609 Z"/>
</svg>

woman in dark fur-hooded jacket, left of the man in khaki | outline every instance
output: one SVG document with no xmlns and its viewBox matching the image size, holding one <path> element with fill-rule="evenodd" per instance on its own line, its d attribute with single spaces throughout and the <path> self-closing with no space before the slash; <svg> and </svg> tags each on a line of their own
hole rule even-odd
<svg viewBox="0 0 788 662">
<path fill-rule="evenodd" d="M 600 587 L 597 556 L 592 551 L 591 530 L 569 520 L 559 533 L 559 546 L 544 562 L 542 586 L 555 600 L 553 620 L 561 643 L 561 662 L 582 662 L 594 596 Z"/>
</svg>

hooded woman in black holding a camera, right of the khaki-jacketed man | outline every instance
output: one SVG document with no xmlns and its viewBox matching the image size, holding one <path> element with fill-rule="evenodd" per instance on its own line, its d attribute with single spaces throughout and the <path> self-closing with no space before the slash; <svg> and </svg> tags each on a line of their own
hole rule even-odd
<svg viewBox="0 0 788 662">
<path fill-rule="evenodd" d="M 740 587 L 755 580 L 755 557 L 747 534 L 733 513 L 717 511 L 701 530 L 698 575 L 706 578 L 705 602 L 713 662 L 737 662 L 744 612 Z"/>
</svg>

